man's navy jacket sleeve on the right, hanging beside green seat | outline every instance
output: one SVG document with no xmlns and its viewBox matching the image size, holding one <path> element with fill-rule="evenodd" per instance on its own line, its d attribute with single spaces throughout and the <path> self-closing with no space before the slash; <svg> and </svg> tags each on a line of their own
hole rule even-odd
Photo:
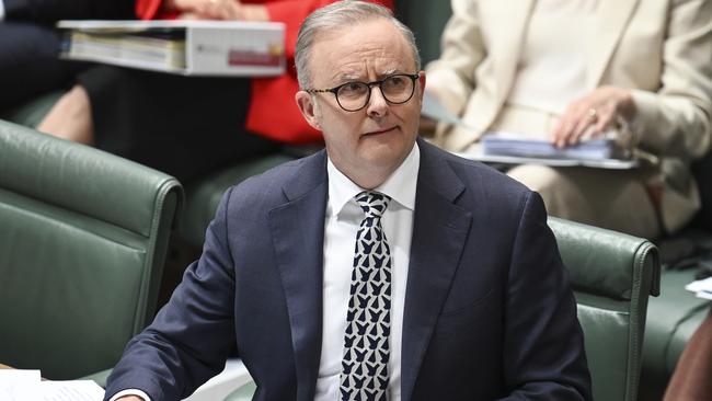
<svg viewBox="0 0 712 401">
<path fill-rule="evenodd" d="M 529 193 L 520 216 L 505 299 L 507 399 L 590 400 L 576 302 L 538 194 Z"/>
</svg>

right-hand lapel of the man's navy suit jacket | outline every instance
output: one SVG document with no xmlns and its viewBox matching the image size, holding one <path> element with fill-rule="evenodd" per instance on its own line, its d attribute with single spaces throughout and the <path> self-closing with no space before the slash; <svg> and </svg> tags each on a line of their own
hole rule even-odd
<svg viewBox="0 0 712 401">
<path fill-rule="evenodd" d="M 423 357 L 455 276 L 472 215 L 455 204 L 464 186 L 451 168 L 418 141 L 421 168 L 405 291 L 401 351 L 402 399 L 410 400 Z"/>
</svg>

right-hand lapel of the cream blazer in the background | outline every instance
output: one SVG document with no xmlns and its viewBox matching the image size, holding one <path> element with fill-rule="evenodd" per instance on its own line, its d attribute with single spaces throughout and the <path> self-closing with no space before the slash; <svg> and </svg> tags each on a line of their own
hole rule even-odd
<svg viewBox="0 0 712 401">
<path fill-rule="evenodd" d="M 587 88 L 597 88 L 606 67 L 628 26 L 628 22 L 639 0 L 601 1 L 596 12 L 596 38 L 588 46 L 589 70 L 586 78 Z"/>
</svg>

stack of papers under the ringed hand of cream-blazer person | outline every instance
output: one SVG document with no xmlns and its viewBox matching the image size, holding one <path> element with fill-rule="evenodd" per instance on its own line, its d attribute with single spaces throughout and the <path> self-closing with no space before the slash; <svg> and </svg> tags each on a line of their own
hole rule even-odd
<svg viewBox="0 0 712 401">
<path fill-rule="evenodd" d="M 612 139 L 596 138 L 577 145 L 558 148 L 543 139 L 531 139 L 516 134 L 491 134 L 482 138 L 484 154 L 518 156 L 525 158 L 605 160 L 618 154 Z"/>
</svg>

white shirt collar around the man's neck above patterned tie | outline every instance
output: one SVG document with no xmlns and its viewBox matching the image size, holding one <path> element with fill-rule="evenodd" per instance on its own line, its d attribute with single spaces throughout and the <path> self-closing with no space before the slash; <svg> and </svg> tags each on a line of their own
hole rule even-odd
<svg viewBox="0 0 712 401">
<path fill-rule="evenodd" d="M 413 149 L 401 165 L 374 191 L 390 196 L 392 200 L 410 210 L 415 209 L 415 187 L 420 167 L 421 150 L 416 142 L 413 144 Z M 329 204 L 333 214 L 338 215 L 349 200 L 365 190 L 338 171 L 331 158 L 326 161 L 326 172 L 329 174 Z"/>
</svg>

